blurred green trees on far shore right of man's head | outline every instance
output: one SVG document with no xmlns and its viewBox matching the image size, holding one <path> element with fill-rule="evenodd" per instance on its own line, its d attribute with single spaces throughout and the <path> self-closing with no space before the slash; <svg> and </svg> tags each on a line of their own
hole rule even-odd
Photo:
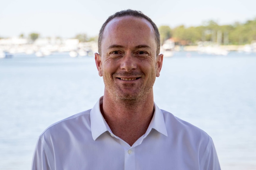
<svg viewBox="0 0 256 170">
<path fill-rule="evenodd" d="M 161 43 L 173 38 L 177 45 L 197 45 L 199 41 L 220 45 L 244 45 L 256 40 L 256 18 L 233 25 L 218 25 L 213 20 L 197 27 L 180 25 L 171 29 L 167 25 L 162 25 L 159 27 L 159 33 Z"/>
</svg>

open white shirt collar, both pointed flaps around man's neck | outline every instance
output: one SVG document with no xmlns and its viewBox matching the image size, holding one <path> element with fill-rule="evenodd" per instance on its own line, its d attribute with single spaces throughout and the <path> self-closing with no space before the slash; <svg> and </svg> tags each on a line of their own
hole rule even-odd
<svg viewBox="0 0 256 170">
<path fill-rule="evenodd" d="M 103 102 L 103 96 L 99 98 L 97 103 L 94 105 L 94 107 L 91 109 L 90 112 L 90 120 L 91 120 L 91 134 L 93 140 L 96 140 L 102 133 L 109 131 L 111 132 L 110 127 L 108 126 L 107 122 L 105 121 L 104 117 L 102 116 L 100 112 L 100 104 Z M 151 132 L 151 129 L 157 130 L 159 133 L 162 133 L 163 135 L 167 136 L 167 131 L 165 127 L 165 121 L 162 111 L 158 108 L 156 103 L 154 103 L 154 115 L 153 118 L 148 126 L 148 129 L 144 135 L 146 137 L 149 132 Z"/>
</svg>

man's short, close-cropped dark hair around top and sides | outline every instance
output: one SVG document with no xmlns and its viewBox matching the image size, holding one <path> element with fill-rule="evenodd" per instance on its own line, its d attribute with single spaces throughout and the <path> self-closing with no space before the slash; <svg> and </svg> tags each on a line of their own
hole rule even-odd
<svg viewBox="0 0 256 170">
<path fill-rule="evenodd" d="M 124 17 L 124 16 L 133 16 L 133 17 L 138 17 L 138 18 L 144 18 L 148 22 L 151 23 L 151 25 L 154 27 L 154 31 L 155 31 L 155 39 L 156 39 L 156 43 L 157 43 L 157 55 L 158 55 L 160 53 L 160 34 L 158 31 L 157 25 L 148 16 L 143 14 L 141 11 L 136 11 L 136 10 L 132 10 L 132 9 L 127 9 L 127 10 L 116 12 L 115 14 L 109 16 L 108 19 L 104 22 L 104 24 L 102 25 L 102 27 L 99 31 L 99 38 L 98 38 L 99 54 L 101 53 L 101 43 L 102 43 L 102 39 L 103 39 L 103 31 L 104 31 L 106 25 L 108 24 L 108 22 L 110 22 L 114 18 Z"/>
</svg>

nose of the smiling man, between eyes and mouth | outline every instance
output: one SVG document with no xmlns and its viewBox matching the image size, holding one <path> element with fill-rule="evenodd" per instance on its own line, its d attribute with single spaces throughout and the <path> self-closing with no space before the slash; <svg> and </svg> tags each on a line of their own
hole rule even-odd
<svg viewBox="0 0 256 170">
<path fill-rule="evenodd" d="M 126 54 L 121 61 L 121 69 L 127 72 L 137 68 L 137 60 L 132 54 Z"/>
</svg>

